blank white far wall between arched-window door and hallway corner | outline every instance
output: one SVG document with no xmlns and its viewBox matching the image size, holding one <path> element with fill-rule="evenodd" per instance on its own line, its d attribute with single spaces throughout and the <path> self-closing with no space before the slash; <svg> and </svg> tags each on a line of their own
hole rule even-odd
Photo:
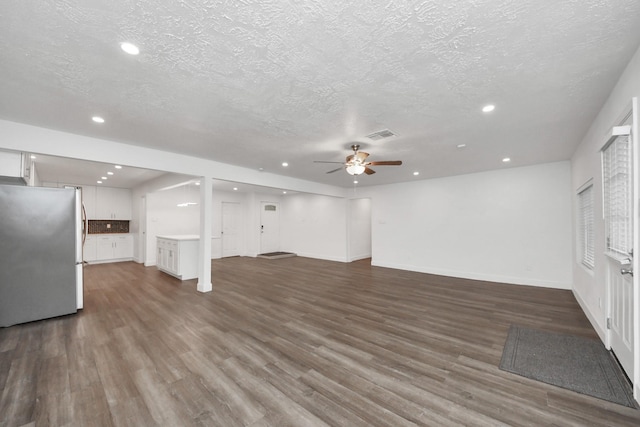
<svg viewBox="0 0 640 427">
<path fill-rule="evenodd" d="M 308 258 L 347 261 L 347 201 L 314 194 L 281 199 L 281 248 Z"/>
</svg>

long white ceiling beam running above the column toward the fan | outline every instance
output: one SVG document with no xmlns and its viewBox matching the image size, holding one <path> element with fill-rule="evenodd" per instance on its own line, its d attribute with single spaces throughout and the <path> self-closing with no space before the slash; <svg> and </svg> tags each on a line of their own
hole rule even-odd
<svg viewBox="0 0 640 427">
<path fill-rule="evenodd" d="M 76 135 L 23 123 L 0 120 L 0 148 L 62 156 L 103 163 L 117 163 L 157 171 L 202 176 L 261 187 L 344 197 L 345 188 L 261 172 L 213 160 L 170 153 L 120 142 Z"/>
</svg>

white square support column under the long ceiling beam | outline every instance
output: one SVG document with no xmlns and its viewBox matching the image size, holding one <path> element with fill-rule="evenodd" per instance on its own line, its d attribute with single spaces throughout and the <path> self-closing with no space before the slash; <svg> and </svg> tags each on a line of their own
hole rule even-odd
<svg viewBox="0 0 640 427">
<path fill-rule="evenodd" d="M 198 250 L 199 292 L 211 292 L 211 218 L 213 213 L 213 179 L 200 178 L 200 247 Z"/>
</svg>

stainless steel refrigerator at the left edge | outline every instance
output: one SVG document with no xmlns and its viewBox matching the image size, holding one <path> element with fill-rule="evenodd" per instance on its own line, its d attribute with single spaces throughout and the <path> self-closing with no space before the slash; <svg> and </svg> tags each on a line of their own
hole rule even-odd
<svg viewBox="0 0 640 427">
<path fill-rule="evenodd" d="M 0 185 L 0 327 L 83 307 L 82 193 Z"/>
</svg>

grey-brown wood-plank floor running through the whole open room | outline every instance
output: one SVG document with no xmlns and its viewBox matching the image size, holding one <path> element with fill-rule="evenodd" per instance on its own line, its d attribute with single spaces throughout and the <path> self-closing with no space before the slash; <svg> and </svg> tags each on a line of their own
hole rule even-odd
<svg viewBox="0 0 640 427">
<path fill-rule="evenodd" d="M 638 426 L 498 369 L 509 325 L 595 337 L 569 291 L 307 258 L 213 292 L 90 265 L 77 315 L 0 328 L 0 426 Z"/>
</svg>

